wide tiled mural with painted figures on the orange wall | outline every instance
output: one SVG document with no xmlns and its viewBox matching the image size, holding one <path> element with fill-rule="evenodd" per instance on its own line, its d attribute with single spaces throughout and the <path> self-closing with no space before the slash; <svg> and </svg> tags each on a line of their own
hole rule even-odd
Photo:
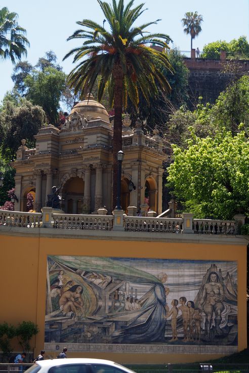
<svg viewBox="0 0 249 373">
<path fill-rule="evenodd" d="M 237 346 L 237 264 L 49 256 L 47 343 Z"/>
</svg>

